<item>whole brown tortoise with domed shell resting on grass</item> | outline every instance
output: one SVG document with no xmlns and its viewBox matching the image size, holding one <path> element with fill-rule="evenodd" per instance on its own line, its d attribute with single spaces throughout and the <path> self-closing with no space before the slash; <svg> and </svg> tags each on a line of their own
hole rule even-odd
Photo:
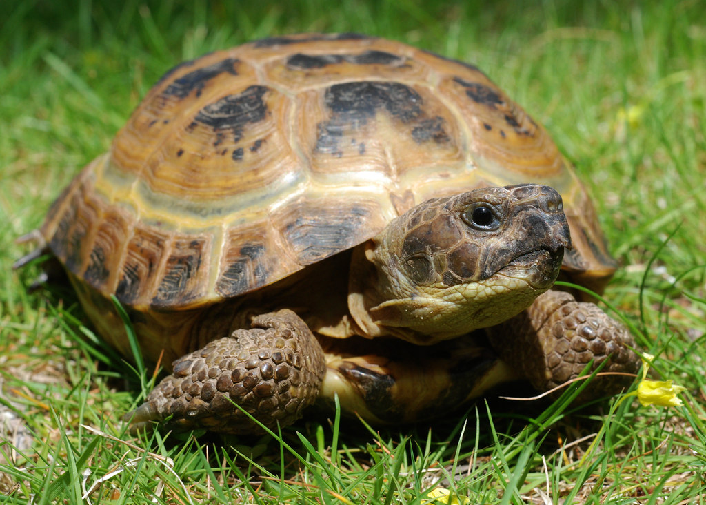
<svg viewBox="0 0 706 505">
<path fill-rule="evenodd" d="M 114 296 L 171 372 L 137 428 L 254 433 L 244 412 L 287 425 L 336 395 L 413 422 L 639 364 L 618 322 L 553 288 L 561 271 L 600 292 L 616 262 L 546 131 L 477 67 L 381 38 L 172 68 L 37 236 L 102 337 L 131 356 Z"/>
</svg>

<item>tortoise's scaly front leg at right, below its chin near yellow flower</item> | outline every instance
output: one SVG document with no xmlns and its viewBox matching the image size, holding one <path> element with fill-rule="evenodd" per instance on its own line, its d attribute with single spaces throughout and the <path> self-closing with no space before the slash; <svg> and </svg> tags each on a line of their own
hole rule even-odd
<svg viewBox="0 0 706 505">
<path fill-rule="evenodd" d="M 640 358 L 633 337 L 622 324 L 594 303 L 578 302 L 564 291 L 550 290 L 507 322 L 488 329 L 501 358 L 537 391 L 547 391 L 578 377 L 593 360 L 592 369 L 609 360 L 602 372 L 635 373 Z M 616 394 L 632 379 L 604 376 L 582 398 Z"/>
</svg>

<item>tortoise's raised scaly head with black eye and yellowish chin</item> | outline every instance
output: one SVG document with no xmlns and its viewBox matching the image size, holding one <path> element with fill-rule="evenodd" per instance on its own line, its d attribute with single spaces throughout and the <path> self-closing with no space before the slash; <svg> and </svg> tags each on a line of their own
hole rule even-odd
<svg viewBox="0 0 706 505">
<path fill-rule="evenodd" d="M 428 200 L 354 251 L 349 309 L 367 336 L 450 339 L 529 307 L 569 247 L 561 196 L 549 186 Z"/>
</svg>

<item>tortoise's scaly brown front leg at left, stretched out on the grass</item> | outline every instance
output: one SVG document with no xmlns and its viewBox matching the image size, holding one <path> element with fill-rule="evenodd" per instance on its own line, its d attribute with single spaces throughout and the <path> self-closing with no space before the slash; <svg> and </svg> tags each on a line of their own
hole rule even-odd
<svg viewBox="0 0 706 505">
<path fill-rule="evenodd" d="M 222 433 L 289 425 L 318 396 L 326 365 L 321 345 L 299 316 L 280 310 L 253 317 L 252 329 L 208 343 L 174 361 L 174 372 L 126 414 L 135 430 L 151 421 L 169 428 Z"/>
</svg>

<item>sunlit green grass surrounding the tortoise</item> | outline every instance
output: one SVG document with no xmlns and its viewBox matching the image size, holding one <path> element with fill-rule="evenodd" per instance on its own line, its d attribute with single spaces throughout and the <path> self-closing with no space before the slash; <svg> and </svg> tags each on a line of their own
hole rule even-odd
<svg viewBox="0 0 706 505">
<path fill-rule="evenodd" d="M 0 21 L 0 497 L 9 503 L 702 503 L 706 8 L 698 1 L 10 1 Z M 606 293 L 684 406 L 479 402 L 431 426 L 308 418 L 258 439 L 126 435 L 136 374 L 14 238 L 175 63 L 361 31 L 477 63 L 549 129 L 624 265 Z M 97 349 L 98 351 L 95 351 Z M 112 363 L 111 366 L 104 362 Z M 128 384 L 126 377 L 131 380 Z M 95 432 L 100 430 L 102 434 Z M 164 438 L 162 438 L 164 436 Z M 115 470 L 121 470 L 115 473 Z M 443 502 L 439 499 L 437 503 Z M 459 499 L 463 503 L 462 498 Z"/>
</svg>

